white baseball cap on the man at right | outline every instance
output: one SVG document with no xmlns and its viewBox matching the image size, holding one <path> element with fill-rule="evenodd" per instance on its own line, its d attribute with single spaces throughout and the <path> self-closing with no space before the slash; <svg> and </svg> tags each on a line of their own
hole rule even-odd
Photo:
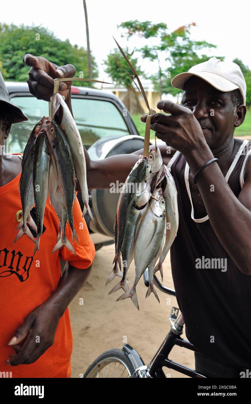
<svg viewBox="0 0 251 404">
<path fill-rule="evenodd" d="M 171 81 L 171 85 L 184 90 L 187 80 L 191 76 L 197 76 L 211 84 L 219 91 L 227 92 L 238 88 L 246 104 L 247 85 L 240 67 L 233 62 L 221 62 L 216 57 L 211 57 L 206 62 L 191 67 L 186 73 L 177 74 Z"/>
</svg>

